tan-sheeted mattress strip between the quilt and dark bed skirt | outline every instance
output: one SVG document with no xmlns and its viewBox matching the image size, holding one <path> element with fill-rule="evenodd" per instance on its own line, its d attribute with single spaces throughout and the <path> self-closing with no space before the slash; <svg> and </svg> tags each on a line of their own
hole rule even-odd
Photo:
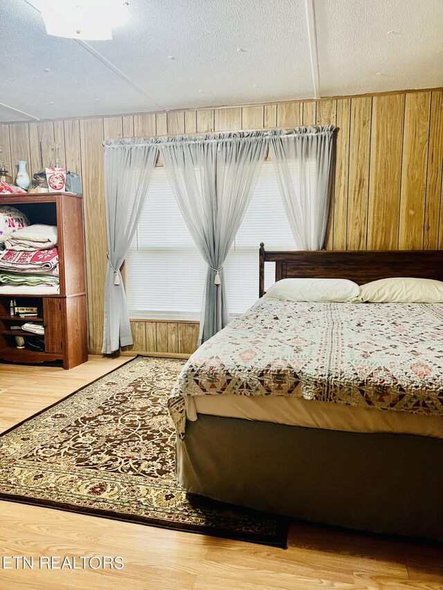
<svg viewBox="0 0 443 590">
<path fill-rule="evenodd" d="M 389 432 L 443 439 L 440 416 L 374 412 L 362 407 L 285 396 L 192 396 L 186 398 L 185 403 L 186 418 L 190 421 L 201 415 L 222 416 L 343 432 Z"/>
</svg>

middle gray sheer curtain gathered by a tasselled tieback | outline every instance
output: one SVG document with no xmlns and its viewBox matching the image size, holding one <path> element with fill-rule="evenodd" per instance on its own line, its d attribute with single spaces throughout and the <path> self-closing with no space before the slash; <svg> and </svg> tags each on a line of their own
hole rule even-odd
<svg viewBox="0 0 443 590">
<path fill-rule="evenodd" d="M 199 344 L 229 322 L 223 264 L 266 151 L 262 131 L 161 138 L 163 165 L 199 252 L 208 264 Z"/>
</svg>

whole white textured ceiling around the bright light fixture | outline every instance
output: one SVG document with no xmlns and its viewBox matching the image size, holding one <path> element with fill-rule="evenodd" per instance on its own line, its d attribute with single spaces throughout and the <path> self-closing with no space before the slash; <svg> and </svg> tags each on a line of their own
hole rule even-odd
<svg viewBox="0 0 443 590">
<path fill-rule="evenodd" d="M 0 1 L 3 122 L 443 85 L 442 0 L 130 0 L 102 42 L 37 2 Z"/>
</svg>

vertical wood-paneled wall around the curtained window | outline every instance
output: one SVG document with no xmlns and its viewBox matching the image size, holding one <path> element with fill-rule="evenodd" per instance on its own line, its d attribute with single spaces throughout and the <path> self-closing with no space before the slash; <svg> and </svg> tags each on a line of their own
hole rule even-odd
<svg viewBox="0 0 443 590">
<path fill-rule="evenodd" d="M 107 261 L 102 141 L 313 124 L 338 127 L 327 249 L 443 248 L 440 89 L 0 125 L 9 169 L 21 159 L 28 172 L 39 171 L 57 141 L 66 167 L 82 175 L 91 352 L 101 349 Z M 136 321 L 133 328 L 136 350 L 184 354 L 197 340 L 197 324 Z"/>
</svg>

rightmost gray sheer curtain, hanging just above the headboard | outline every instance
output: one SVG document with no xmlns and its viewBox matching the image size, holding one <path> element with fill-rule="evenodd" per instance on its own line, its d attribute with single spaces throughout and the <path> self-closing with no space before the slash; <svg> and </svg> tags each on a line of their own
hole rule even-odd
<svg viewBox="0 0 443 590">
<path fill-rule="evenodd" d="M 299 250 L 321 250 L 325 241 L 334 154 L 334 130 L 297 127 L 269 131 L 269 149 L 289 225 Z"/>
</svg>

